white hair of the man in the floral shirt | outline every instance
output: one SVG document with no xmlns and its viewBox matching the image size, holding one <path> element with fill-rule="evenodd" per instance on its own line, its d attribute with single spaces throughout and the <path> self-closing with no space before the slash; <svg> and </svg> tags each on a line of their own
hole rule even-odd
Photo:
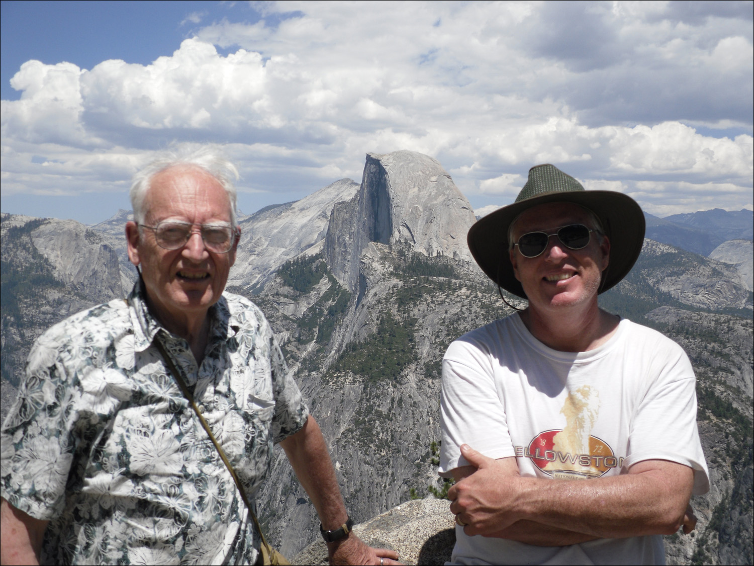
<svg viewBox="0 0 754 566">
<path fill-rule="evenodd" d="M 233 180 L 238 180 L 238 169 L 228 161 L 220 146 L 214 144 L 201 146 L 199 149 L 188 145 L 173 147 L 158 154 L 158 158 L 138 171 L 133 176 L 130 189 L 133 220 L 137 224 L 144 223 L 146 217 L 144 201 L 155 175 L 180 165 L 198 167 L 207 171 L 220 183 L 220 186 L 228 194 L 228 200 L 231 203 L 231 225 L 235 227 L 237 198 Z"/>
</svg>

